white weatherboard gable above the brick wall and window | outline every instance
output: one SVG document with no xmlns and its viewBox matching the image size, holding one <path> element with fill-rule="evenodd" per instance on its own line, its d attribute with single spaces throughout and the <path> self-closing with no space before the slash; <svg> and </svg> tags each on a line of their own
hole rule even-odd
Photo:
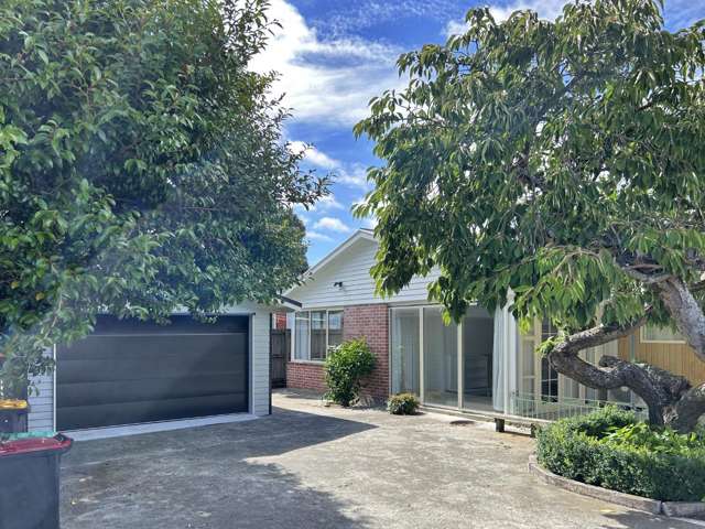
<svg viewBox="0 0 705 529">
<path fill-rule="evenodd" d="M 286 295 L 300 302 L 304 309 L 427 301 L 427 285 L 437 279 L 437 270 L 425 278 L 414 277 L 398 294 L 389 298 L 375 295 L 370 269 L 375 264 L 377 248 L 377 242 L 372 240 L 358 239 Z M 334 285 L 338 282 L 343 283 L 341 288 Z"/>
</svg>

